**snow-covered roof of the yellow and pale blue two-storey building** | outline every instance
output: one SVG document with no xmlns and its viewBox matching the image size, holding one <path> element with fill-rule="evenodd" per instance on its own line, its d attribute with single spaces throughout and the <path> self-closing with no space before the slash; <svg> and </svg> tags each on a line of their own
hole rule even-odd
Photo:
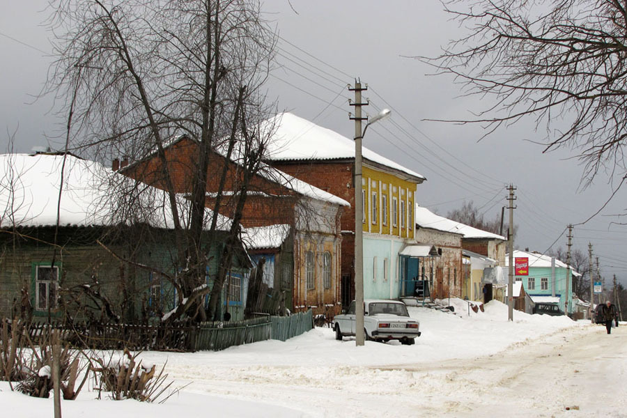
<svg viewBox="0 0 627 418">
<path fill-rule="evenodd" d="M 274 129 L 268 144 L 268 160 L 343 160 L 355 158 L 355 142 L 343 135 L 316 125 L 295 114 L 282 113 L 267 121 L 268 129 Z M 362 147 L 362 157 L 390 169 L 402 171 L 417 183 L 424 176 L 389 160 L 368 148 Z"/>
</svg>

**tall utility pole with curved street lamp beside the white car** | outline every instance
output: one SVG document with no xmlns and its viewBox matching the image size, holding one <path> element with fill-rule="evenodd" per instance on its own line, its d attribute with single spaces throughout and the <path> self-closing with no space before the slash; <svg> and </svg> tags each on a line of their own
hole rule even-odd
<svg viewBox="0 0 627 418">
<path fill-rule="evenodd" d="M 360 86 L 359 86 L 360 87 Z M 355 84 L 355 103 L 361 104 L 361 91 Z M 359 94 L 357 94 L 359 93 Z M 362 139 L 366 130 L 373 123 L 383 121 L 392 115 L 389 109 L 383 109 L 373 116 L 362 132 L 362 108 L 355 106 L 355 343 L 364 345 L 364 211 L 362 202 Z M 360 219 L 362 218 L 362 219 Z"/>
</svg>

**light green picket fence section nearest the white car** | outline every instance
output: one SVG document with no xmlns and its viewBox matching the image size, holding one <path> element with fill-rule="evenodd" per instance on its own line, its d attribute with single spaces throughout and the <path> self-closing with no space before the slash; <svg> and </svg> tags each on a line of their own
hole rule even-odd
<svg viewBox="0 0 627 418">
<path fill-rule="evenodd" d="M 194 350 L 224 350 L 232 346 L 269 339 L 286 341 L 314 327 L 311 310 L 291 316 L 262 316 L 261 318 L 206 322 L 195 328 Z"/>
</svg>

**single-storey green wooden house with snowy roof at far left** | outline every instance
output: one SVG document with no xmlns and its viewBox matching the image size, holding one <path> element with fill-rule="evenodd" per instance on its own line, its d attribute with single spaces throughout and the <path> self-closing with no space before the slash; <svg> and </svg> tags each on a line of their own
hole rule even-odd
<svg viewBox="0 0 627 418">
<path fill-rule="evenodd" d="M 0 155 L 0 167 L 0 316 L 158 322 L 176 306 L 162 191 L 69 154 Z M 180 212 L 186 204 L 180 196 Z M 208 286 L 230 222 L 219 217 L 207 250 Z M 238 319 L 251 262 L 243 247 L 235 253 L 221 305 Z"/>
</svg>

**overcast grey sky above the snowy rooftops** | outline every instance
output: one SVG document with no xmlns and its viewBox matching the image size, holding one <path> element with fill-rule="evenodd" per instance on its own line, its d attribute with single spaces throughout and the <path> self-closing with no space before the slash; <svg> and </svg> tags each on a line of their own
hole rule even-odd
<svg viewBox="0 0 627 418">
<path fill-rule="evenodd" d="M 54 102 L 33 102 L 45 82 L 52 59 L 46 0 L 0 0 L 0 146 L 6 149 L 15 132 L 15 150 L 33 146 L 59 147 L 54 132 Z M 392 107 L 388 121 L 373 125 L 364 146 L 392 158 L 428 179 L 419 185 L 417 199 L 440 215 L 464 200 L 493 218 L 506 204 L 505 185 L 518 187 L 514 211 L 518 224 L 516 245 L 543 252 L 553 242 L 566 247 L 568 223 L 592 215 L 610 196 L 608 178 L 601 174 L 580 189 L 582 167 L 576 151 L 541 153 L 533 141 L 543 138 L 532 121 L 511 125 L 481 141 L 481 127 L 428 122 L 424 119 L 470 118 L 486 107 L 478 98 L 460 98 L 460 86 L 449 77 L 427 76 L 431 70 L 404 56 L 433 56 L 450 39 L 463 33 L 435 0 L 272 0 L 263 6 L 265 17 L 277 27 L 277 70 L 268 82 L 268 94 L 279 109 L 352 137 L 348 119 L 347 84 L 355 77 L 369 85 L 366 112 Z M 12 39 L 13 38 L 13 39 Z M 23 42 L 23 43 L 20 43 Z M 24 45 L 27 44 L 27 45 Z M 627 284 L 626 227 L 610 225 L 609 217 L 626 208 L 626 190 L 614 197 L 600 215 L 575 226 L 575 248 L 594 245 L 601 273 Z M 507 222 L 507 220 L 506 220 Z"/>
</svg>

